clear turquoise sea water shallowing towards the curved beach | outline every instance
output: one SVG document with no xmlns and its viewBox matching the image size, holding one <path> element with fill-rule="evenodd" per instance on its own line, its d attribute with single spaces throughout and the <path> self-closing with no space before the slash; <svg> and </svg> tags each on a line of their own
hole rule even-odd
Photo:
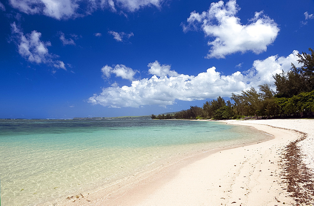
<svg viewBox="0 0 314 206">
<path fill-rule="evenodd" d="M 268 138 L 219 122 L 0 120 L 1 204 L 60 202 L 171 158 Z"/>
</svg>

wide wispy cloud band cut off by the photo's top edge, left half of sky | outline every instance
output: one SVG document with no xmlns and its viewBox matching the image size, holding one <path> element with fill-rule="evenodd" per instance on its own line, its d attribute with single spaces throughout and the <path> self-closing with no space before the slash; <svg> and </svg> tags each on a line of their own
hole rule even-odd
<svg viewBox="0 0 314 206">
<path fill-rule="evenodd" d="M 42 14 L 56 19 L 89 15 L 97 9 L 109 8 L 117 12 L 116 5 L 129 12 L 146 6 L 160 8 L 164 0 L 9 0 L 12 7 L 27 14 Z M 0 5 L 0 8 L 1 5 Z M 122 12 L 123 13 L 123 12 Z"/>
</svg>

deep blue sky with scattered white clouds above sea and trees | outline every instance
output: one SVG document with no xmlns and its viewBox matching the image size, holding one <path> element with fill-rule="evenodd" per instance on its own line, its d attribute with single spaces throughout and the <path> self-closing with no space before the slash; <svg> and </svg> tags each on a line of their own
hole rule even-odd
<svg viewBox="0 0 314 206">
<path fill-rule="evenodd" d="M 313 0 L 0 0 L 0 118 L 160 114 L 275 89 L 313 31 Z"/>
</svg>

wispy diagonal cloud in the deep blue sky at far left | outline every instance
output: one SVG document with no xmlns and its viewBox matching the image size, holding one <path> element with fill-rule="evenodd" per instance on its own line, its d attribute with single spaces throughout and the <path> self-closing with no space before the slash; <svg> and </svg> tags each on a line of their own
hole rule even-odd
<svg viewBox="0 0 314 206">
<path fill-rule="evenodd" d="M 57 55 L 48 52 L 47 47 L 51 46 L 51 43 L 49 41 L 41 41 L 40 32 L 34 30 L 30 34 L 24 34 L 15 22 L 10 25 L 12 33 L 11 39 L 18 47 L 18 52 L 22 57 L 32 63 L 45 63 L 57 69 L 62 68 L 66 70 L 63 61 L 53 60 Z"/>
</svg>

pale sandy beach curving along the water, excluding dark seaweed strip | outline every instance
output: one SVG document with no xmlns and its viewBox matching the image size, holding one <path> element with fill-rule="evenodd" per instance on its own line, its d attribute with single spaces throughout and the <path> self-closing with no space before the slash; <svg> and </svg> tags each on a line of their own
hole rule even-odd
<svg viewBox="0 0 314 206">
<path fill-rule="evenodd" d="M 274 136 L 259 144 L 215 152 L 205 158 L 156 173 L 154 178 L 133 183 L 118 194 L 104 191 L 75 199 L 72 204 L 109 205 L 278 205 L 296 204 L 287 192 L 284 153 L 302 134 L 302 161 L 314 171 L 314 135 L 309 119 L 223 121 L 253 126 Z M 270 126 L 269 126 L 270 125 Z M 286 128 L 286 129 L 280 129 Z M 294 129 L 296 131 L 288 130 Z M 290 162 L 291 163 L 291 162 Z M 313 182 L 312 182 L 313 183 Z M 312 198 L 312 196 L 307 196 Z"/>
</svg>

